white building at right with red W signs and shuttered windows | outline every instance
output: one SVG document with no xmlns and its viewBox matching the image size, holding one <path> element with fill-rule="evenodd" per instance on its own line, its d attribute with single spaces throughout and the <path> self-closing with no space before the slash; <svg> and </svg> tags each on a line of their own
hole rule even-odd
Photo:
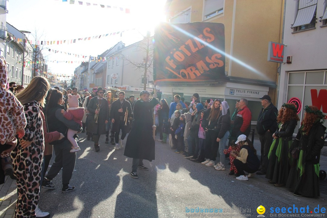
<svg viewBox="0 0 327 218">
<path fill-rule="evenodd" d="M 278 107 L 315 105 L 327 117 L 327 8 L 325 0 L 286 1 Z M 290 28 L 292 27 L 292 28 Z M 324 123 L 327 126 L 327 122 Z M 300 122 L 298 122 L 298 127 Z"/>
</svg>

